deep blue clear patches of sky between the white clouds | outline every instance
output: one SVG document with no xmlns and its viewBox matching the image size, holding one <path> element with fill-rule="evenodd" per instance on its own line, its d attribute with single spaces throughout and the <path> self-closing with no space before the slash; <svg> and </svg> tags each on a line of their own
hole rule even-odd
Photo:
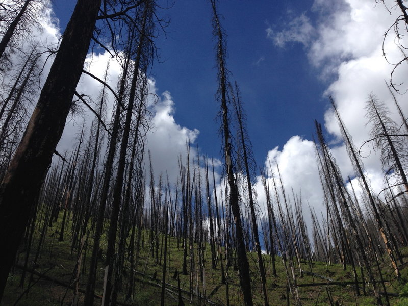
<svg viewBox="0 0 408 306">
<path fill-rule="evenodd" d="M 74 1 L 54 1 L 61 29 Z M 283 146 L 292 135 L 311 138 L 313 120 L 323 121 L 327 99 L 324 82 L 311 68 L 304 47 L 293 42 L 284 48 L 267 37 L 267 28 L 282 30 L 287 18 L 310 12 L 311 1 L 221 1 L 227 33 L 230 81 L 237 81 L 247 114 L 257 164 L 262 165 L 270 148 Z M 159 92 L 171 93 L 175 102 L 174 119 L 189 129 L 198 129 L 197 142 L 209 156 L 220 155 L 217 135 L 219 110 L 214 44 L 209 1 L 176 1 L 161 16 L 171 21 L 159 33 L 156 46 L 159 61 L 151 69 Z"/>
</svg>

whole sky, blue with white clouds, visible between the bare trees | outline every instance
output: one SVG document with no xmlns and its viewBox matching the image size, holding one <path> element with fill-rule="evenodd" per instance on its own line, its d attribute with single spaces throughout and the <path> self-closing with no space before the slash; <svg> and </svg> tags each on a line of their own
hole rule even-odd
<svg viewBox="0 0 408 306">
<path fill-rule="evenodd" d="M 44 14 L 46 30 L 42 41 L 56 43 L 69 20 L 74 1 L 53 1 Z M 207 1 L 164 1 L 164 15 L 171 19 L 159 32 L 158 60 L 151 68 L 150 92 L 159 97 L 152 106 L 153 127 L 147 148 L 152 152 L 155 173 L 177 174 L 177 156 L 185 152 L 190 140 L 202 155 L 220 156 L 216 121 L 218 106 L 214 69 L 211 7 Z M 227 33 L 230 79 L 240 85 L 247 113 L 248 133 L 258 166 L 268 167 L 268 158 L 279 164 L 286 188 L 291 187 L 316 210 L 323 208 L 322 192 L 312 142 L 313 120 L 326 129 L 333 154 L 346 179 L 352 175 L 334 113 L 329 107 L 332 95 L 353 136 L 356 146 L 369 139 L 365 101 L 373 93 L 384 101 L 399 122 L 385 81 L 390 82 L 394 68 L 382 54 L 384 33 L 400 14 L 394 1 L 376 4 L 374 0 L 261 2 L 222 1 L 218 11 L 224 17 Z M 53 15 L 55 14 L 55 15 Z M 55 16 L 60 19 L 60 24 Z M 391 30 L 384 50 L 391 63 L 401 52 Z M 88 56 L 87 68 L 102 77 L 109 55 Z M 406 65 L 394 73 L 400 93 Z M 115 86 L 119 66 L 110 61 L 110 84 Z M 79 91 L 97 96 L 97 82 L 83 77 Z M 405 112 L 406 94 L 397 94 Z M 85 115 L 91 116 L 91 115 Z M 110 110 L 107 112 L 110 116 Z M 72 138 L 82 126 L 83 117 L 70 117 L 60 141 L 59 151 L 73 146 Z M 88 120 L 89 122 L 91 119 Z M 384 174 L 378 154 L 362 147 L 368 176 L 375 191 L 381 190 Z M 264 195 L 257 181 L 258 201 Z M 357 187 L 358 184 L 354 184 Z"/>
</svg>

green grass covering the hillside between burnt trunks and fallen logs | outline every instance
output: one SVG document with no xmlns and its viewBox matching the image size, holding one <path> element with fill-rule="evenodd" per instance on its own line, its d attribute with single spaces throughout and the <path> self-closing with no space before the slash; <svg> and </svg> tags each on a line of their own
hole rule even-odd
<svg viewBox="0 0 408 306">
<path fill-rule="evenodd" d="M 36 271 L 43 273 L 51 278 L 58 279 L 63 283 L 70 283 L 72 272 L 77 261 L 78 251 L 74 250 L 72 256 L 70 255 L 71 243 L 70 238 L 70 227 L 66 228 L 65 232 L 65 241 L 58 242 L 58 232 L 61 226 L 61 219 L 53 225 L 52 228 L 48 228 L 45 243 L 42 249 L 41 258 L 36 265 Z M 68 224 L 70 226 L 70 224 Z M 38 231 L 37 231 L 38 232 Z M 162 265 L 156 264 L 155 258 L 148 256 L 149 246 L 147 245 L 148 241 L 148 232 L 142 232 L 142 239 L 144 240 L 144 247 L 141 248 L 138 265 L 136 270 L 138 273 L 135 273 L 136 276 L 136 285 L 135 293 L 132 300 L 127 301 L 128 304 L 135 305 L 157 305 L 160 304 L 160 292 L 161 292 L 161 279 L 162 279 Z M 38 235 L 37 235 L 38 238 Z M 106 238 L 102 237 L 101 247 L 106 247 Z M 89 239 L 89 242 L 92 242 Z M 161 243 L 161 240 L 160 240 Z M 166 282 L 174 285 L 174 288 L 168 287 L 170 290 L 177 291 L 176 286 L 177 282 L 172 278 L 175 269 L 178 271 L 182 269 L 183 261 L 183 249 L 177 244 L 176 238 L 169 237 L 168 239 L 168 265 L 166 273 Z M 36 247 L 38 246 L 38 241 L 36 240 L 33 244 L 32 252 L 35 252 Z M 195 245 L 196 247 L 196 245 Z M 90 247 L 88 247 L 90 249 Z M 405 251 L 405 256 L 408 256 L 408 250 Z M 90 250 L 88 250 L 90 252 Z M 160 252 L 160 245 L 159 245 Z M 198 290 L 201 295 L 211 296 L 209 299 L 217 304 L 226 304 L 226 286 L 220 285 L 221 282 L 221 272 L 220 265 L 218 264 L 217 270 L 211 269 L 211 258 L 210 258 L 210 248 L 206 244 L 206 262 L 205 265 L 205 284 L 199 281 Z M 194 250 L 195 257 L 197 256 L 197 250 Z M 19 263 L 23 265 L 25 253 L 21 253 L 19 256 Z M 89 256 L 89 254 L 87 254 Z M 29 268 L 33 267 L 33 257 L 31 254 L 31 259 L 29 261 Z M 160 253 L 159 253 L 160 257 Z M 252 275 L 252 293 L 255 305 L 262 305 L 263 299 L 261 296 L 261 286 L 260 286 L 260 277 L 257 272 L 256 265 L 256 254 L 248 253 L 248 259 L 251 267 Z M 189 259 L 188 259 L 189 260 Z M 194 259 L 197 263 L 197 258 Z M 267 290 L 269 302 L 271 305 L 287 305 L 286 296 L 287 289 L 287 278 L 284 270 L 284 265 L 282 264 L 282 259 L 276 257 L 277 264 L 277 273 L 278 277 L 272 276 L 271 271 L 271 258 L 270 256 L 265 255 L 265 266 L 267 269 Z M 162 259 L 163 261 L 163 259 Z M 89 258 L 85 259 L 85 262 L 89 262 Z M 188 265 L 189 267 L 189 265 Z M 103 271 L 104 265 L 103 261 L 99 262 L 98 276 L 97 276 L 97 292 L 96 294 L 101 295 L 101 287 L 103 280 Z M 310 271 L 310 267 L 307 264 L 303 264 L 302 269 L 304 271 Z M 341 265 L 329 265 L 326 266 L 324 263 L 314 263 L 312 267 L 313 273 L 328 277 L 338 282 L 352 281 L 352 270 L 348 268 L 346 271 L 343 270 Z M 152 276 L 157 274 L 157 279 L 152 279 Z M 310 284 L 310 283 L 322 283 L 325 282 L 324 279 L 319 277 L 314 277 L 310 275 L 304 275 L 302 278 L 299 277 L 299 271 L 297 270 L 298 284 Z M 234 270 L 234 267 L 230 267 L 228 270 L 230 275 L 229 282 L 229 297 L 231 305 L 240 305 L 242 304 L 242 296 L 239 290 L 239 278 L 238 272 Z M 125 273 L 123 276 L 124 291 L 126 290 L 127 282 L 129 280 L 131 273 Z M 408 278 L 408 269 L 402 270 L 403 278 Z M 144 276 L 143 276 L 144 275 Z M 24 288 L 19 288 L 18 284 L 20 282 L 21 269 L 14 269 L 10 273 L 8 285 L 6 287 L 5 295 L 2 300 L 2 305 L 13 305 L 15 301 L 20 297 L 21 299 L 18 302 L 18 305 L 59 305 L 64 299 L 64 305 L 70 305 L 72 302 L 72 290 L 61 285 L 57 285 L 48 280 L 44 280 L 37 275 L 33 276 L 31 282 L 31 288 L 27 294 L 23 292 L 27 289 L 29 284 L 30 273 L 27 274 L 25 280 Z M 384 269 L 385 279 L 393 279 L 392 271 L 389 269 Z M 80 289 L 85 289 L 85 282 L 87 275 L 82 275 L 80 278 Z M 143 283 L 142 283 L 143 279 Z M 194 276 L 194 287 L 193 290 L 196 290 L 196 281 L 199 280 L 199 275 Z M 181 288 L 189 291 L 190 289 L 190 276 L 180 274 Z M 405 279 L 406 282 L 406 279 Z M 72 283 L 71 283 L 72 284 Z M 393 281 L 387 284 L 389 292 L 400 292 L 402 290 L 402 285 L 398 282 Z M 406 287 L 406 286 L 405 286 Z M 204 293 L 205 291 L 205 293 Z M 406 290 L 408 291 L 408 290 Z M 407 292 L 408 293 L 408 292 Z M 329 305 L 328 295 L 331 295 L 333 301 L 338 305 L 373 305 L 374 298 L 371 295 L 356 297 L 354 290 L 350 286 L 313 286 L 313 287 L 299 287 L 299 295 L 301 298 L 302 305 Z M 64 298 L 65 295 L 65 298 Z M 183 294 L 183 297 L 186 299 L 184 302 L 187 304 L 190 301 L 190 296 L 186 293 Z M 83 295 L 80 294 L 80 304 L 82 302 Z M 166 305 L 177 305 L 177 293 L 166 294 Z M 124 301 L 124 297 L 119 295 L 119 300 Z M 403 298 L 390 298 L 391 305 L 405 305 L 406 300 Z M 198 304 L 196 296 L 193 297 L 193 304 Z M 202 302 L 201 302 L 202 303 Z M 100 299 L 95 299 L 95 304 L 100 304 Z M 294 305 L 294 300 L 290 299 L 290 304 Z M 408 305 L 408 303 L 406 303 Z"/>
</svg>

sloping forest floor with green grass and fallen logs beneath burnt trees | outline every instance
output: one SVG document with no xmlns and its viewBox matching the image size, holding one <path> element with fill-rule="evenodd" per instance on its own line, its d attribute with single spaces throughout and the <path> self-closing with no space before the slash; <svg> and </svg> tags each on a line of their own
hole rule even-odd
<svg viewBox="0 0 408 306">
<path fill-rule="evenodd" d="M 8 284 L 3 296 L 2 305 L 27 305 L 27 306 L 46 306 L 46 305 L 72 305 L 74 299 L 76 264 L 78 259 L 78 250 L 74 249 L 71 253 L 72 241 L 70 240 L 70 224 L 65 229 L 64 241 L 59 240 L 61 228 L 61 218 L 55 222 L 52 227 L 47 227 L 43 243 L 39 242 L 39 230 L 36 231 L 34 242 L 31 247 L 28 269 L 25 272 L 24 285 L 21 287 L 20 280 L 24 270 L 25 252 L 19 254 L 17 265 L 9 275 Z M 39 226 L 38 226 L 39 227 Z M 163 236 L 159 235 L 158 252 L 154 247 L 154 256 L 151 256 L 149 241 L 149 231 L 141 232 L 141 248 L 137 259 L 136 270 L 131 273 L 129 269 L 123 273 L 122 293 L 118 296 L 118 305 L 159 305 L 161 301 L 161 289 L 163 278 Z M 106 237 L 101 237 L 101 258 L 98 265 L 97 284 L 95 292 L 95 305 L 100 305 L 102 295 L 102 286 L 104 278 L 104 255 L 106 248 Z M 89 256 L 91 253 L 92 239 L 89 238 L 85 246 L 87 252 L 82 260 L 84 271 L 89 267 Z M 163 247 L 163 248 L 162 248 Z M 196 273 L 181 273 L 183 266 L 183 247 L 182 239 L 168 237 L 167 249 L 167 269 L 165 285 L 165 305 L 177 305 L 179 298 L 179 289 L 175 276 L 176 270 L 180 272 L 181 295 L 185 304 L 200 305 L 226 305 L 227 290 L 231 305 L 243 304 L 242 294 L 239 288 L 239 276 L 236 269 L 236 263 L 228 269 L 228 286 L 221 284 L 221 265 L 218 261 L 217 269 L 211 268 L 211 251 L 209 244 L 205 243 L 205 261 L 202 266 L 202 273 L 199 271 L 197 244 L 194 243 L 193 266 Z M 38 258 L 34 263 L 35 253 L 38 251 Z M 190 251 L 189 251 L 190 252 Z M 408 248 L 402 249 L 404 261 L 408 259 Z M 270 305 L 295 305 L 295 300 L 288 291 L 287 276 L 282 258 L 276 256 L 277 277 L 272 274 L 271 256 L 264 255 L 264 263 L 267 274 L 267 292 Z M 250 264 L 250 273 L 252 280 L 252 295 L 254 305 L 263 305 L 261 294 L 261 281 L 257 269 L 257 257 L 255 252 L 248 252 Z M 125 265 L 129 267 L 125 257 Z M 190 257 L 187 257 L 187 267 L 190 271 Z M 225 261 L 224 261 L 225 268 Z M 303 276 L 300 274 L 299 266 L 295 262 L 295 275 L 297 279 L 297 290 L 300 302 L 303 306 L 309 305 L 355 305 L 369 306 L 375 304 L 375 298 L 371 292 L 371 285 L 366 287 L 366 295 L 363 294 L 362 284 L 359 284 L 361 295 L 356 295 L 353 282 L 353 271 L 351 267 L 343 269 L 342 265 L 329 264 L 321 262 L 302 262 L 301 268 Z M 408 306 L 408 268 L 403 265 L 401 270 L 401 281 L 394 276 L 391 268 L 382 265 L 382 274 L 385 280 L 386 289 L 389 294 L 390 305 Z M 361 281 L 360 271 L 358 271 Z M 365 273 L 366 274 L 366 273 Z M 201 277 L 202 276 L 202 277 Z M 135 286 L 130 298 L 125 298 L 130 278 L 134 277 Z M 81 293 L 86 287 L 87 274 L 81 274 L 78 282 L 78 299 L 82 304 L 84 294 Z M 192 283 L 191 283 L 192 282 Z M 190 285 L 192 284 L 192 286 Z M 197 285 L 198 284 L 198 285 Z M 382 285 L 378 284 L 378 288 Z M 198 291 L 198 293 L 197 293 Z M 398 297 L 398 294 L 400 296 Z M 384 305 L 387 305 L 386 298 L 382 297 Z"/>
</svg>

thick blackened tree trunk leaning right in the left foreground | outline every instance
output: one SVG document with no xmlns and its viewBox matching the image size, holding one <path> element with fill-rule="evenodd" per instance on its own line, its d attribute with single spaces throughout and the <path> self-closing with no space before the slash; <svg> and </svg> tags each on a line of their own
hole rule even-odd
<svg viewBox="0 0 408 306">
<path fill-rule="evenodd" d="M 32 205 L 61 138 L 101 0 L 78 0 L 37 106 L 0 185 L 0 298 Z M 30 175 L 27 175 L 30 173 Z"/>
</svg>

